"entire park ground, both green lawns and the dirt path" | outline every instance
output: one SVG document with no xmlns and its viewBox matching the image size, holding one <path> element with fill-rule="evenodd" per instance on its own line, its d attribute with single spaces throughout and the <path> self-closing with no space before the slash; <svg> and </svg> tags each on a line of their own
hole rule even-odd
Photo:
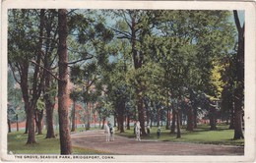
<svg viewBox="0 0 256 163">
<path fill-rule="evenodd" d="M 103 130 L 78 129 L 71 134 L 73 154 L 243 155 L 244 140 L 233 140 L 232 130 L 225 125 L 218 127 L 217 131 L 210 131 L 208 126 L 200 126 L 194 132 L 183 129 L 181 138 L 164 129 L 157 138 L 157 128 L 153 128 L 151 136 L 142 137 L 141 141 L 136 141 L 133 128 L 116 133 L 114 141 L 105 141 Z M 36 144 L 26 145 L 27 135 L 22 132 L 8 134 L 8 150 L 15 154 L 59 154 L 58 137 L 45 139 L 44 136 L 36 136 Z"/>
</svg>

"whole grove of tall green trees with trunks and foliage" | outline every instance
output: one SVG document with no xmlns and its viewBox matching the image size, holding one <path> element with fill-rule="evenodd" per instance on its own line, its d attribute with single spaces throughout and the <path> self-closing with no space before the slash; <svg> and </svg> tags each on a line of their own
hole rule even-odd
<svg viewBox="0 0 256 163">
<path fill-rule="evenodd" d="M 55 136 L 56 94 L 61 154 L 72 152 L 69 98 L 72 131 L 77 102 L 87 110 L 95 103 L 103 121 L 114 115 L 120 132 L 125 120 L 139 120 L 143 136 L 146 124 L 165 117 L 177 137 L 182 113 L 193 131 L 205 110 L 215 130 L 222 106 L 234 138 L 243 137 L 244 24 L 233 16 L 234 22 L 229 11 L 10 10 L 8 63 L 21 87 L 27 143 L 35 142 L 34 120 L 41 131 L 44 110 L 46 138 Z"/>
</svg>

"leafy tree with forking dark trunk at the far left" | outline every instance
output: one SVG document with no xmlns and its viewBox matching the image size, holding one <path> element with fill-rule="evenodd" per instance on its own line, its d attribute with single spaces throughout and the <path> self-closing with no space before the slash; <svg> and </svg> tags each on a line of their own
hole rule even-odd
<svg viewBox="0 0 256 163">
<path fill-rule="evenodd" d="M 8 52 L 10 54 L 8 62 L 15 80 L 22 88 L 29 131 L 27 143 L 31 144 L 35 143 L 34 109 L 41 94 L 44 78 L 43 71 L 38 66 L 42 57 L 41 37 L 44 27 L 44 10 L 12 10 L 9 14 L 11 26 L 8 30 Z M 36 19 L 39 19 L 39 23 L 34 21 Z M 36 27 L 38 27 L 38 34 L 34 32 Z M 30 62 L 35 63 L 33 69 Z"/>
</svg>

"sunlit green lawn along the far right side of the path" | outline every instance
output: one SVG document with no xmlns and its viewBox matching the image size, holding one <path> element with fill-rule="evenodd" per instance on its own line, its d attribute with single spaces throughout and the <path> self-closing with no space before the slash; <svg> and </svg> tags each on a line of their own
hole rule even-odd
<svg viewBox="0 0 256 163">
<path fill-rule="evenodd" d="M 217 128 L 218 130 L 216 131 L 210 131 L 210 126 L 199 125 L 194 132 L 188 132 L 184 127 L 181 129 L 181 137 L 176 138 L 176 134 L 169 134 L 170 130 L 165 130 L 165 127 L 161 127 L 161 136 L 159 140 L 244 146 L 244 139 L 232 139 L 234 132 L 233 130 L 228 130 L 227 125 L 219 125 Z M 157 127 L 153 127 L 151 129 L 151 136 L 144 136 L 142 139 L 158 139 L 157 129 Z M 116 133 L 116 135 L 131 138 L 135 137 L 133 134 L 133 128 L 131 128 L 131 130 L 126 130 L 125 133 L 122 134 Z"/>
</svg>

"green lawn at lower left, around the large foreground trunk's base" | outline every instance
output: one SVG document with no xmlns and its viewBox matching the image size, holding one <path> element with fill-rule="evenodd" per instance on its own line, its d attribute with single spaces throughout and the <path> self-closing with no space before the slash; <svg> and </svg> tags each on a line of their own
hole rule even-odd
<svg viewBox="0 0 256 163">
<path fill-rule="evenodd" d="M 57 132 L 56 132 L 57 133 Z M 8 151 L 14 154 L 60 154 L 59 137 L 45 139 L 44 135 L 36 135 L 36 144 L 26 144 L 28 136 L 24 132 L 8 134 Z M 102 151 L 73 146 L 73 154 L 105 154 Z"/>
</svg>

